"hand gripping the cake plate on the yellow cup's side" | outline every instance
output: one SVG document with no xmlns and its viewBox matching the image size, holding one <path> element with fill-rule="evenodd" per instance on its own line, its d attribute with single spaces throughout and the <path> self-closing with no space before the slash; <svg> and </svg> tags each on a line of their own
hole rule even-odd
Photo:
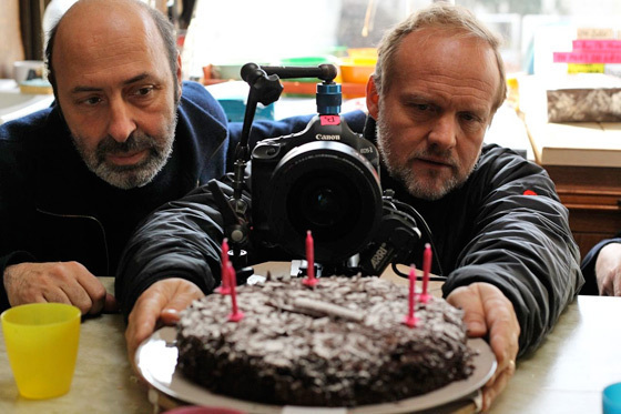
<svg viewBox="0 0 621 414">
<path fill-rule="evenodd" d="M 128 356 L 134 368 L 136 349 L 155 331 L 157 322 L 174 324 L 179 321 L 179 312 L 204 295 L 198 286 L 185 279 L 164 279 L 142 292 L 130 313 L 125 331 Z"/>
</svg>

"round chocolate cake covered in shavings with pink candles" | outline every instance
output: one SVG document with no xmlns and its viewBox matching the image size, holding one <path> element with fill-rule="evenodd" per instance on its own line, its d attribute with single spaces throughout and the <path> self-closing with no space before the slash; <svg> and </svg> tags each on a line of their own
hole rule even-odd
<svg viewBox="0 0 621 414">
<path fill-rule="evenodd" d="M 378 277 L 299 279 L 195 301 L 177 324 L 177 366 L 214 393 L 276 405 L 380 404 L 472 372 L 461 311 L 431 297 L 403 324 L 408 289 Z"/>
</svg>

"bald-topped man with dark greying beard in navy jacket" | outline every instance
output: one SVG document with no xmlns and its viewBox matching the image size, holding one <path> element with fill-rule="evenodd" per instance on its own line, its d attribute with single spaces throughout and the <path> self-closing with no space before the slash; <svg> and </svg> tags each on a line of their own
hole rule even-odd
<svg viewBox="0 0 621 414">
<path fill-rule="evenodd" d="M 0 128 L 0 310 L 96 314 L 115 301 L 95 276 L 114 274 L 139 221 L 222 176 L 235 145 L 222 107 L 182 84 L 172 24 L 141 1 L 77 2 L 45 54 L 55 104 Z"/>
</svg>

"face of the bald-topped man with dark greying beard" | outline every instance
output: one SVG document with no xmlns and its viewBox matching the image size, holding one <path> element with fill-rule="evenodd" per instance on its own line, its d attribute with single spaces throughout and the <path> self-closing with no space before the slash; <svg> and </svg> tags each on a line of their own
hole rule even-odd
<svg viewBox="0 0 621 414">
<path fill-rule="evenodd" d="M 179 97 L 153 23 L 123 18 L 68 21 L 59 28 L 53 63 L 59 104 L 82 159 L 111 185 L 131 189 L 166 163 Z"/>
</svg>

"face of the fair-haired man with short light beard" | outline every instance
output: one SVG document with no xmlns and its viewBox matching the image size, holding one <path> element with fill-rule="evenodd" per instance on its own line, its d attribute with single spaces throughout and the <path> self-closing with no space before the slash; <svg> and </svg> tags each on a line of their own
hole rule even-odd
<svg viewBox="0 0 621 414">
<path fill-rule="evenodd" d="M 391 85 L 367 105 L 393 176 L 417 198 L 438 200 L 461 185 L 479 158 L 500 75 L 481 40 L 437 29 L 408 34 L 396 52 Z"/>
</svg>

